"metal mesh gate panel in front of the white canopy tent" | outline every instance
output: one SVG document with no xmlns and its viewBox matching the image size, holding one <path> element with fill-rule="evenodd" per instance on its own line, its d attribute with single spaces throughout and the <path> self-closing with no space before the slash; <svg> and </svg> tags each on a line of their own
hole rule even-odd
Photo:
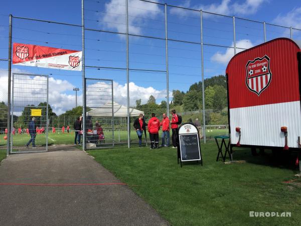
<svg viewBox="0 0 301 226">
<path fill-rule="evenodd" d="M 85 78 L 86 148 L 114 147 L 113 80 Z"/>
</svg>

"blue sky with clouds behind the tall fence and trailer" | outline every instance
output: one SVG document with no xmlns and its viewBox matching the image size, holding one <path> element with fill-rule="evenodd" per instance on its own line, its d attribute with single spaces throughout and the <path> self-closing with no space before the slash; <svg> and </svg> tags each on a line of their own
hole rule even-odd
<svg viewBox="0 0 301 226">
<path fill-rule="evenodd" d="M 160 3 L 165 1 L 158 0 Z M 301 29 L 301 2 L 276 0 L 219 0 L 166 1 L 167 4 L 265 21 Z M 8 57 L 8 14 L 14 16 L 81 24 L 81 1 L 5 1 L 0 9 L 0 59 Z M 125 1 L 85 1 L 85 26 L 91 29 L 125 32 Z M 203 14 L 204 43 L 233 46 L 232 18 Z M 129 33 L 165 37 L 164 7 L 138 0 L 129 0 Z M 126 67 L 124 35 L 86 31 L 86 65 Z M 170 39 L 200 42 L 198 12 L 168 8 L 168 36 Z M 289 37 L 289 29 L 266 26 L 266 38 Z M 301 39 L 301 32 L 293 30 L 293 38 Z M 250 48 L 263 42 L 263 25 L 236 19 L 236 46 Z M 13 42 L 81 50 L 81 28 L 14 19 Z M 187 91 L 201 80 L 201 47 L 169 41 L 170 91 Z M 231 48 L 204 46 L 205 78 L 224 74 L 233 56 Z M 166 70 L 165 41 L 129 37 L 129 67 L 133 69 Z M 6 89 L 7 62 L 0 61 L 0 87 Z M 50 104 L 58 114 L 75 105 L 73 87 L 79 87 L 81 100 L 81 72 L 13 66 L 15 71 L 49 74 Z M 126 103 L 126 72 L 124 70 L 86 69 L 86 77 L 114 80 L 115 100 Z M 131 105 L 136 99 L 145 102 L 150 94 L 157 102 L 166 96 L 166 74 L 141 71 L 130 72 Z M 0 100 L 5 99 L 0 94 Z"/>
</svg>

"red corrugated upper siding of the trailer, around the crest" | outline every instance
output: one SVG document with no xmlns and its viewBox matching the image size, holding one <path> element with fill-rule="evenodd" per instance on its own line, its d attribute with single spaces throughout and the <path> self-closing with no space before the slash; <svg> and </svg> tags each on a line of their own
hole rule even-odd
<svg viewBox="0 0 301 226">
<path fill-rule="evenodd" d="M 277 39 L 238 53 L 229 62 L 229 107 L 247 107 L 300 100 L 297 52 L 299 47 L 289 39 Z M 271 81 L 260 95 L 246 84 L 248 61 L 264 56 L 270 58 Z M 252 82 L 252 81 L 251 81 Z M 253 85 L 256 86 L 255 79 Z"/>
</svg>

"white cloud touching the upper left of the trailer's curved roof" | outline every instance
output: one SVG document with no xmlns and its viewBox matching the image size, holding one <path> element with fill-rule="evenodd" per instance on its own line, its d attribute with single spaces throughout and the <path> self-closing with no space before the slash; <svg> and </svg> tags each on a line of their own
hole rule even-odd
<svg viewBox="0 0 301 226">
<path fill-rule="evenodd" d="M 242 39 L 236 42 L 236 47 L 243 48 L 243 49 L 249 49 L 253 47 L 254 45 L 252 42 L 248 39 Z M 234 44 L 232 42 L 231 47 L 234 47 Z M 236 48 L 236 53 L 239 53 L 243 51 L 243 49 Z M 212 57 L 211 60 L 219 63 L 227 65 L 230 61 L 230 59 L 234 56 L 234 49 L 233 48 L 227 48 L 225 53 L 217 52 Z"/>
</svg>

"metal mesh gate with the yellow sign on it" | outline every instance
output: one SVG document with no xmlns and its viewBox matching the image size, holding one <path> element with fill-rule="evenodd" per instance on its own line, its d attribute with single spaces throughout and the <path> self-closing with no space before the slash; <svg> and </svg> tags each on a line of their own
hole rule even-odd
<svg viewBox="0 0 301 226">
<path fill-rule="evenodd" d="M 48 75 L 13 73 L 11 128 L 11 154 L 48 151 Z"/>
</svg>

